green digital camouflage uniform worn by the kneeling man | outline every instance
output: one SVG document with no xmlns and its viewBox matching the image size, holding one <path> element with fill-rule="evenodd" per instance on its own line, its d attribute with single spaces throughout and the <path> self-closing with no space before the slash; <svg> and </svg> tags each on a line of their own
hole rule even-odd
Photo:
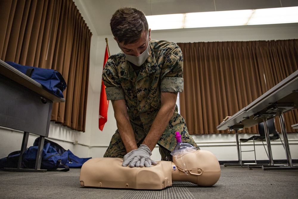
<svg viewBox="0 0 298 199">
<path fill-rule="evenodd" d="M 183 91 L 183 56 L 177 44 L 151 40 L 149 57 L 137 75 L 125 55 L 112 55 L 103 70 L 103 81 L 108 100 L 125 99 L 128 115 L 139 146 L 145 139 L 161 107 L 161 92 Z M 170 152 L 176 146 L 175 132 L 179 131 L 182 142 L 197 146 L 188 135 L 186 124 L 178 113 L 173 113 L 167 128 L 158 141 L 162 159 L 171 160 Z M 123 157 L 126 154 L 118 129 L 113 135 L 104 157 Z"/>
</svg>

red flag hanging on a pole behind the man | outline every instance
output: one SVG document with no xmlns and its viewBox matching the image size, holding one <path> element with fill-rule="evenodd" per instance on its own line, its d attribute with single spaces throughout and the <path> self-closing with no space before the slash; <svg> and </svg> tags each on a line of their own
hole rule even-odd
<svg viewBox="0 0 298 199">
<path fill-rule="evenodd" d="M 105 59 L 103 61 L 103 67 L 105 67 L 105 63 L 109 58 L 108 55 L 108 45 L 105 47 Z M 103 131 L 103 126 L 108 120 L 108 106 L 109 101 L 107 100 L 107 95 L 105 94 L 105 85 L 103 84 L 103 80 L 101 80 L 101 91 L 100 91 L 100 102 L 99 102 L 99 121 L 98 127 L 101 131 Z"/>
</svg>

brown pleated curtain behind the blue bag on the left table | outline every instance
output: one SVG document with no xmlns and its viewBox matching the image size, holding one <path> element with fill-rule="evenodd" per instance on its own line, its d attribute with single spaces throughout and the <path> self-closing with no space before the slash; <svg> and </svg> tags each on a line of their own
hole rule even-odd
<svg viewBox="0 0 298 199">
<path fill-rule="evenodd" d="M 52 121 L 85 131 L 92 33 L 71 0 L 0 0 L 3 61 L 59 71 L 65 103 L 54 103 Z"/>
</svg>

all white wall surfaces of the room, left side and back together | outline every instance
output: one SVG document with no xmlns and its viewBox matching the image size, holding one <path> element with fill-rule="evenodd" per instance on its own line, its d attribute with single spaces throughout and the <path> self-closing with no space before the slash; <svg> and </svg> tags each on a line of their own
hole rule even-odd
<svg viewBox="0 0 298 199">
<path fill-rule="evenodd" d="M 76 2 L 76 1 L 75 1 Z M 88 13 L 77 4 L 92 33 L 94 27 L 88 18 Z M 91 39 L 91 56 L 89 71 L 89 89 L 86 118 L 86 132 L 77 132 L 60 124 L 51 122 L 49 139 L 57 142 L 65 149 L 70 149 L 79 157 L 103 157 L 116 130 L 116 121 L 111 103 L 108 108 L 108 122 L 103 131 L 98 129 L 98 110 L 100 100 L 101 73 L 105 53 L 105 38 L 108 38 L 110 53 L 119 52 L 119 47 L 112 35 L 97 36 Z M 164 30 L 152 31 L 152 39 L 164 39 L 173 42 L 199 42 L 199 41 L 252 41 L 252 40 L 278 40 L 297 39 L 298 24 L 241 26 L 241 27 L 216 27 L 202 29 Z M 231 113 L 231 115 L 234 113 Z M 218 121 L 218 124 L 221 121 Z M 297 121 L 298 122 L 298 121 Z M 215 124 L 216 126 L 218 124 Z M 23 133 L 0 128 L 0 158 L 6 157 L 10 152 L 20 150 Z M 240 134 L 239 137 L 249 137 L 249 134 Z M 35 135 L 29 136 L 28 147 L 32 146 Z M 237 160 L 235 134 L 195 135 L 194 140 L 201 149 L 209 150 L 216 155 L 218 160 Z M 298 133 L 288 134 L 292 159 L 298 159 Z M 77 141 L 78 144 L 73 144 Z M 285 152 L 278 141 L 272 142 L 273 158 L 285 159 Z M 267 159 L 263 146 L 257 145 L 257 158 Z M 160 160 L 158 148 L 153 150 L 152 158 Z M 243 156 L 252 160 L 253 154 Z"/>
</svg>

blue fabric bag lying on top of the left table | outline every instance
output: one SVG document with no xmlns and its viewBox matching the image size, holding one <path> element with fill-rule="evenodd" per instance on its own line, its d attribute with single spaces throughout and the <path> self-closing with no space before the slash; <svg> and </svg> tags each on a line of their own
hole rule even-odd
<svg viewBox="0 0 298 199">
<path fill-rule="evenodd" d="M 30 76 L 30 78 L 37 81 L 39 84 L 44 86 L 47 90 L 54 93 L 55 95 L 64 98 L 62 92 L 66 89 L 66 82 L 61 73 L 57 70 L 23 66 L 11 61 L 5 62 L 24 74 L 30 71 L 30 75 L 28 75 Z"/>
</svg>

